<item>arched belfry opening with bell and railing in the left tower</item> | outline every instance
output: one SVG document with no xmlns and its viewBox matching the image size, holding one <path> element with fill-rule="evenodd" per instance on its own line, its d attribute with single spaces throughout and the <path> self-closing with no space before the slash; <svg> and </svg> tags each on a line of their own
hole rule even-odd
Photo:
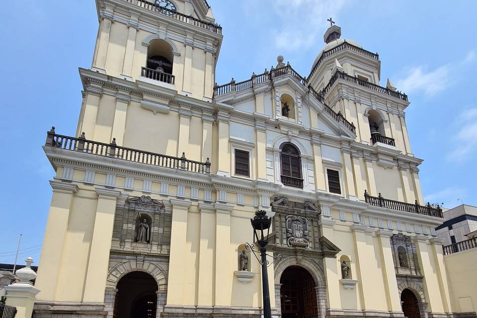
<svg viewBox="0 0 477 318">
<path fill-rule="evenodd" d="M 161 39 L 152 40 L 148 47 L 146 67 L 143 68 L 141 76 L 173 84 L 173 59 L 174 55 L 169 43 Z"/>
</svg>

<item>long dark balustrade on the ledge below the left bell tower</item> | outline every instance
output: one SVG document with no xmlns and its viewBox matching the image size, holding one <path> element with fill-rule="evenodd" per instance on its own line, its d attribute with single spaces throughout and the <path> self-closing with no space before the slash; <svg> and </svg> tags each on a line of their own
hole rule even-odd
<svg viewBox="0 0 477 318">
<path fill-rule="evenodd" d="M 202 174 L 210 173 L 210 161 L 208 158 L 206 162 L 199 162 L 186 159 L 184 153 L 182 153 L 182 157 L 177 158 L 121 147 L 116 145 L 115 138 L 113 138 L 113 141 L 110 144 L 99 143 L 87 140 L 84 133 L 82 133 L 79 138 L 58 135 L 55 133 L 55 127 L 52 127 L 47 133 L 45 146 L 96 156 L 145 163 L 176 170 Z"/>
</svg>

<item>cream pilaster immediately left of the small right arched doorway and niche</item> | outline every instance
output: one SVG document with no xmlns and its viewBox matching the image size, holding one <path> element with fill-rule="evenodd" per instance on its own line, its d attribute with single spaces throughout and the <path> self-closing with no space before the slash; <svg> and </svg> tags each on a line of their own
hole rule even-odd
<svg viewBox="0 0 477 318">
<path fill-rule="evenodd" d="M 386 301 L 390 312 L 401 312 L 399 291 L 397 290 L 396 272 L 394 269 L 393 250 L 391 248 L 392 231 L 380 229 L 375 232 L 381 247 L 381 263 L 386 290 Z"/>
</svg>

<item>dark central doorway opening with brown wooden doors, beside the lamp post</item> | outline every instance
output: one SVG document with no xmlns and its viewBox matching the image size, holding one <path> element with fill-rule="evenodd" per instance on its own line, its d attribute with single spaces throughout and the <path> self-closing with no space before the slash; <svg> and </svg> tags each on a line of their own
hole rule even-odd
<svg viewBox="0 0 477 318">
<path fill-rule="evenodd" d="M 289 266 L 280 278 L 282 318 L 318 318 L 315 280 L 303 267 Z"/>
</svg>

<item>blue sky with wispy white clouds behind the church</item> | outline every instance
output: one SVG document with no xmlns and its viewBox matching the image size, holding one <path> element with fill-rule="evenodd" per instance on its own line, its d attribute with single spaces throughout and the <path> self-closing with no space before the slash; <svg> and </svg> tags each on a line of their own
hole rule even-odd
<svg viewBox="0 0 477 318">
<path fill-rule="evenodd" d="M 426 201 L 477 205 L 475 1 L 209 0 L 224 41 L 217 82 L 247 79 L 283 55 L 307 76 L 324 46 L 327 18 L 342 37 L 378 52 L 389 77 L 409 95 L 413 153 L 424 159 Z M 21 14 L 20 14 L 21 12 Z M 53 169 L 41 146 L 46 131 L 74 135 L 81 103 L 78 68 L 91 66 L 97 33 L 92 0 L 6 1 L 0 50 L 0 263 L 39 259 Z"/>
</svg>

